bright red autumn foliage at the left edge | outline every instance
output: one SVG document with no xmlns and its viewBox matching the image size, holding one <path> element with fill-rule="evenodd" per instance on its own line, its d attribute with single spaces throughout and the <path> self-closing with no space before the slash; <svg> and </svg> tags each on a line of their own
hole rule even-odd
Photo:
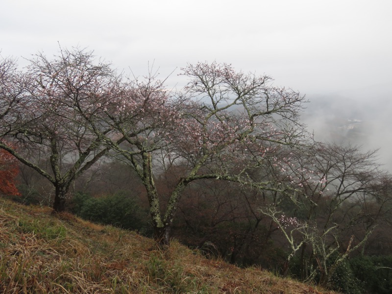
<svg viewBox="0 0 392 294">
<path fill-rule="evenodd" d="M 20 195 L 15 186 L 15 177 L 19 173 L 19 165 L 8 151 L 0 149 L 0 193 L 5 195 Z"/>
</svg>

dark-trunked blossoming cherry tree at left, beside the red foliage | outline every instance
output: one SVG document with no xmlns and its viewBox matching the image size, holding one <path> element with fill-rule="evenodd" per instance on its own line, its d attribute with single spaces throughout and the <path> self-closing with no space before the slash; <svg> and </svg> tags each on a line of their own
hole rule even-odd
<svg viewBox="0 0 392 294">
<path fill-rule="evenodd" d="M 107 136 L 111 128 L 93 119 L 115 95 L 118 77 L 110 64 L 80 49 L 61 49 L 52 60 L 38 54 L 24 76 L 27 95 L 0 147 L 52 183 L 54 211 L 63 211 L 73 180 L 107 152 L 92 128 Z"/>
</svg>

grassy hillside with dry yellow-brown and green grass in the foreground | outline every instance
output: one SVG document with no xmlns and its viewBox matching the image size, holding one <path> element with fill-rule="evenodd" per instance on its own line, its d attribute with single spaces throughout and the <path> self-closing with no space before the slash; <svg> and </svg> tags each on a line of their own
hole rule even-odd
<svg viewBox="0 0 392 294">
<path fill-rule="evenodd" d="M 173 241 L 51 216 L 0 198 L 0 293 L 320 293 L 256 268 L 209 260 Z M 322 292 L 328 293 L 328 292 Z"/>
</svg>

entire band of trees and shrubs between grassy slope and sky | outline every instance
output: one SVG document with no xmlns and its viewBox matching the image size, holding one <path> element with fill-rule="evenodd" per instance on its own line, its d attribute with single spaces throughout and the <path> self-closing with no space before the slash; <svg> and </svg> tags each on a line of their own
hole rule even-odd
<svg viewBox="0 0 392 294">
<path fill-rule="evenodd" d="M 320 143 L 304 96 L 230 65 L 168 89 L 84 49 L 0 63 L 0 192 L 345 293 L 392 289 L 392 178 Z"/>
</svg>

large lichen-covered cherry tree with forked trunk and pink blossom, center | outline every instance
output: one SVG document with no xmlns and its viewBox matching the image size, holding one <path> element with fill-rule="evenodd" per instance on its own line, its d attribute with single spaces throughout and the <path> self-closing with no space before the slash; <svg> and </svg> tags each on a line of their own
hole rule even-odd
<svg viewBox="0 0 392 294">
<path fill-rule="evenodd" d="M 257 170 L 282 146 L 300 144 L 306 136 L 298 122 L 304 97 L 273 87 L 270 77 L 215 62 L 188 65 L 182 74 L 189 82 L 180 93 L 167 91 L 151 72 L 129 82 L 102 117 L 124 139 L 106 142 L 143 182 L 160 246 L 169 245 L 179 201 L 192 182 L 216 179 L 280 191 L 275 181 L 260 181 Z M 183 173 L 160 203 L 154 178 L 173 165 L 183 166 Z"/>
</svg>

